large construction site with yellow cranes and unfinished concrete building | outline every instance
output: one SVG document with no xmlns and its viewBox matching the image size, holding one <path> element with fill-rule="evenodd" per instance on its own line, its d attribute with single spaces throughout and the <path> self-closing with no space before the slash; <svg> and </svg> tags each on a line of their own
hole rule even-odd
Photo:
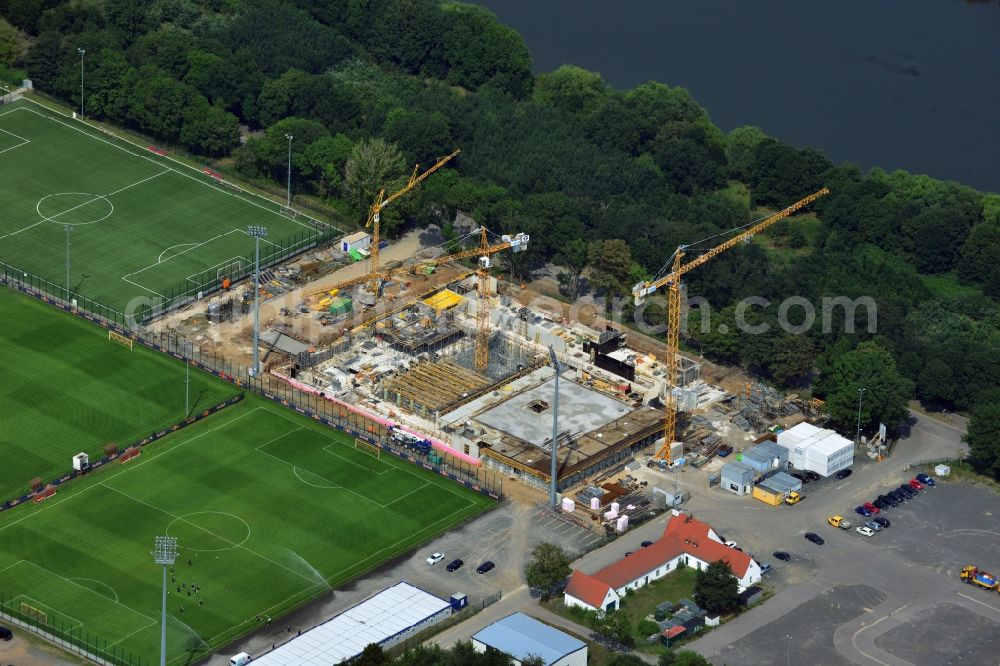
<svg viewBox="0 0 1000 666">
<path fill-rule="evenodd" d="M 418 453 L 454 456 L 539 491 L 582 492 L 588 510 L 595 496 L 600 510 L 636 490 L 628 474 L 636 466 L 714 469 L 722 463 L 713 462 L 717 456 L 769 430 L 822 421 L 818 401 L 761 384 L 723 388 L 705 381 L 701 362 L 680 353 L 679 322 L 684 273 L 824 191 L 690 261 L 679 249 L 663 275 L 636 285 L 637 306 L 661 289 L 668 297 L 665 353 L 658 356 L 630 346 L 631 334 L 620 326 L 585 325 L 533 307 L 498 279 L 495 260 L 525 251 L 526 234 L 473 226 L 384 261 L 381 255 L 396 248 L 379 236 L 381 210 L 448 159 L 419 176 L 414 171 L 400 192 L 380 192 L 367 221 L 371 233 L 350 234 L 267 270 L 256 294 L 251 282 L 216 295 L 203 318 L 192 318 L 189 308 L 174 325 L 182 328 L 184 317 L 207 322 L 203 342 L 229 327 L 245 344 L 259 304 L 264 372 L 391 423 L 386 437 L 394 433 L 397 444 Z M 601 491 L 601 484 L 610 487 Z"/>
</svg>

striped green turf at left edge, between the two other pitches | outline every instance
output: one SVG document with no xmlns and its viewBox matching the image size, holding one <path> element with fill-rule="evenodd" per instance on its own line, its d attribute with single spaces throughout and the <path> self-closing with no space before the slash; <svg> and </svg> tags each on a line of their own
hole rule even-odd
<svg viewBox="0 0 1000 666">
<path fill-rule="evenodd" d="M 72 469 L 84 451 L 99 459 L 184 418 L 184 364 L 165 354 L 109 342 L 102 328 L 0 287 L 0 502 Z M 236 389 L 191 373 L 191 409 Z"/>
</svg>

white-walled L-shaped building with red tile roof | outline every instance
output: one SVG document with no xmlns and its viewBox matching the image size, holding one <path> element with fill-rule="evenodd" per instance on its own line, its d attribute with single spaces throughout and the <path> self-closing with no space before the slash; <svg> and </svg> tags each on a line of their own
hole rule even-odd
<svg viewBox="0 0 1000 666">
<path fill-rule="evenodd" d="M 703 569 L 718 560 L 729 565 L 741 590 L 760 580 L 760 565 L 752 557 L 726 546 L 708 524 L 675 510 L 663 535 L 651 545 L 596 573 L 574 571 L 564 601 L 567 606 L 614 610 L 628 590 L 662 578 L 681 563 Z"/>
</svg>

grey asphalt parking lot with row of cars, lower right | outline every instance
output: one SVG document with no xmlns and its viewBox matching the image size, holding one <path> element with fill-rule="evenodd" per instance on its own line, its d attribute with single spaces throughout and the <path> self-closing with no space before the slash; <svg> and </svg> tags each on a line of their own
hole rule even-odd
<svg viewBox="0 0 1000 666">
<path fill-rule="evenodd" d="M 739 502 L 728 516 L 702 509 L 719 530 L 774 565 L 766 580 L 778 593 L 692 647 L 715 664 L 1000 663 L 1000 594 L 958 578 L 967 564 L 1000 570 L 997 495 L 944 481 L 882 512 L 892 525 L 872 537 L 826 524 L 833 514 L 862 524 L 855 506 L 909 478 L 866 471 L 860 479 L 808 484 L 807 499 L 794 507 L 762 512 Z M 807 531 L 825 544 L 806 541 Z M 792 560 L 773 560 L 774 550 Z"/>
</svg>

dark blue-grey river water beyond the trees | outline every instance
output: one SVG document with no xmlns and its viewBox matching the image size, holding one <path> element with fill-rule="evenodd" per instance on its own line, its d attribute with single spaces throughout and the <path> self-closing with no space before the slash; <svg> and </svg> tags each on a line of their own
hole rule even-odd
<svg viewBox="0 0 1000 666">
<path fill-rule="evenodd" d="M 1000 2 L 477 1 L 536 72 L 684 86 L 727 131 L 1000 192 Z"/>
</svg>

